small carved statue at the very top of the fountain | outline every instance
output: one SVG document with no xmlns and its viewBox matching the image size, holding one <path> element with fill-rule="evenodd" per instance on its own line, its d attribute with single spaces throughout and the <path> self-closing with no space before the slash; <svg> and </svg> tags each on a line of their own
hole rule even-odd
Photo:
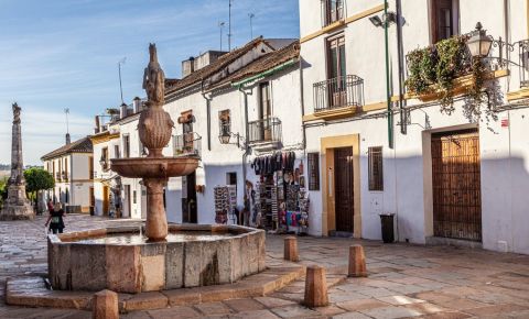
<svg viewBox="0 0 529 319">
<path fill-rule="evenodd" d="M 149 65 L 143 73 L 143 89 L 147 91 L 149 101 L 154 105 L 163 105 L 165 101 L 165 75 L 158 63 L 156 45 L 149 43 Z"/>
</svg>

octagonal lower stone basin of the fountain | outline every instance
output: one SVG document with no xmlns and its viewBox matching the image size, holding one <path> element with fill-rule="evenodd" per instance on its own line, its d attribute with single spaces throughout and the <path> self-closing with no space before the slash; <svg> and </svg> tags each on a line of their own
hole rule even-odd
<svg viewBox="0 0 529 319">
<path fill-rule="evenodd" d="M 50 234 L 52 287 L 134 294 L 229 284 L 266 268 L 262 230 L 170 224 L 163 242 L 144 241 L 139 233 L 127 227 Z"/>
</svg>

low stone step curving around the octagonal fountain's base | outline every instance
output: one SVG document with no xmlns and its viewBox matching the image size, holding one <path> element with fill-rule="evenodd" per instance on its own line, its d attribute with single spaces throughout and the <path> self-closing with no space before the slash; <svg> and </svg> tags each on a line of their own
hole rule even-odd
<svg viewBox="0 0 529 319">
<path fill-rule="evenodd" d="M 140 294 L 119 294 L 119 311 L 152 310 L 235 298 L 262 297 L 303 277 L 306 268 L 284 263 L 241 280 L 217 286 L 181 288 Z M 6 302 L 12 306 L 73 308 L 91 310 L 95 292 L 65 292 L 46 289 L 43 277 L 8 278 Z"/>
</svg>

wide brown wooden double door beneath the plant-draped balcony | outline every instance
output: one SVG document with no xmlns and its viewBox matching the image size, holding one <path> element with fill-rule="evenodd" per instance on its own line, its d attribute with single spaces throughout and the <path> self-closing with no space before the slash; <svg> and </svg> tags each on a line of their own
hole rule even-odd
<svg viewBox="0 0 529 319">
<path fill-rule="evenodd" d="M 435 237 L 482 240 L 479 166 L 477 131 L 432 135 Z"/>
</svg>

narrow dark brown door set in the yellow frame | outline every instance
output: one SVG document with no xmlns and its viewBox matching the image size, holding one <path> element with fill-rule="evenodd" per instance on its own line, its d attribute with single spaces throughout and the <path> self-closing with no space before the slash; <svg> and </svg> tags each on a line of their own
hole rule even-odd
<svg viewBox="0 0 529 319">
<path fill-rule="evenodd" d="M 336 230 L 353 232 L 353 147 L 334 148 Z"/>
</svg>

